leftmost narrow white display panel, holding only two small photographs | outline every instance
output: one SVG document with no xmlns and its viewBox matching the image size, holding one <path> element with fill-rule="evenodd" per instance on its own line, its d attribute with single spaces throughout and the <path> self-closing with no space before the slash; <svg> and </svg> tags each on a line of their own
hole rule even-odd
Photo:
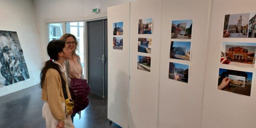
<svg viewBox="0 0 256 128">
<path fill-rule="evenodd" d="M 118 22 L 123 22 L 122 35 L 113 34 L 113 23 Z M 113 37 L 122 38 L 122 50 L 113 49 Z M 108 7 L 108 119 L 122 128 L 128 128 L 129 61 L 130 3 L 127 3 Z"/>
</svg>

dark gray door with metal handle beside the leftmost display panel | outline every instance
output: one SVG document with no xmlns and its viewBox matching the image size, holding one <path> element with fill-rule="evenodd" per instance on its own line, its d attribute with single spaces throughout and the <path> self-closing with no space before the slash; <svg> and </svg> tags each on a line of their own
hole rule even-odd
<svg viewBox="0 0 256 128">
<path fill-rule="evenodd" d="M 87 22 L 88 37 L 88 84 L 93 93 L 108 96 L 108 21 Z M 105 64 L 103 60 L 105 59 Z"/>
</svg>

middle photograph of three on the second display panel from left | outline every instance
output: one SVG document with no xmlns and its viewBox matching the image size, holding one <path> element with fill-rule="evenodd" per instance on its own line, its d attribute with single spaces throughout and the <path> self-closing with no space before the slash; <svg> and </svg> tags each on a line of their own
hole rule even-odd
<svg viewBox="0 0 256 128">
<path fill-rule="evenodd" d="M 151 53 L 152 38 L 138 38 L 138 52 Z"/>
</svg>

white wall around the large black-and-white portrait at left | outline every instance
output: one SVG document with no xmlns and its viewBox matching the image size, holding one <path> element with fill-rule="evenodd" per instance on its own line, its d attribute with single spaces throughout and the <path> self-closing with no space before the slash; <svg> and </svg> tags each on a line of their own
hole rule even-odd
<svg viewBox="0 0 256 128">
<path fill-rule="evenodd" d="M 42 67 L 41 45 L 32 0 L 0 0 L 0 30 L 17 32 L 30 78 L 0 88 L 0 96 L 38 84 Z"/>
</svg>

